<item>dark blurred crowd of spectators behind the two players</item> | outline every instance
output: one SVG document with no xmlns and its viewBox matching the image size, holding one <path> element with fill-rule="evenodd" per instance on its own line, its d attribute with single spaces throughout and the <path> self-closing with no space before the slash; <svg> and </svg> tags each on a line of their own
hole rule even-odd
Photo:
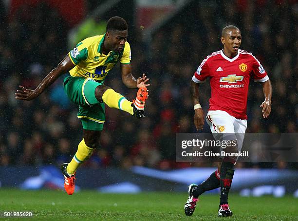
<svg viewBox="0 0 298 221">
<path fill-rule="evenodd" d="M 193 1 L 156 30 L 150 42 L 142 38 L 142 29 L 136 28 L 135 36 L 129 32 L 133 75 L 146 73 L 150 78 L 146 117 L 138 120 L 106 108 L 101 146 L 84 166 L 212 166 L 176 163 L 175 133 L 196 132 L 189 82 L 201 61 L 222 49 L 221 30 L 227 24 L 240 28 L 241 49 L 261 61 L 273 85 L 272 112 L 263 119 L 262 87 L 251 82 L 247 132 L 297 132 L 298 4 L 294 2 L 235 0 L 199 5 Z M 0 14 L 0 166 L 59 165 L 72 159 L 83 135 L 78 108 L 64 94 L 63 76 L 33 101 L 14 98 L 19 85 L 35 89 L 67 55 L 69 30 L 58 12 L 43 3 L 19 8 L 13 17 Z M 105 84 L 130 100 L 135 97 L 136 90 L 122 84 L 119 68 L 108 74 Z M 206 113 L 209 83 L 200 91 Z M 210 132 L 206 123 L 203 132 Z M 269 166 L 297 167 L 284 162 Z"/>
</svg>

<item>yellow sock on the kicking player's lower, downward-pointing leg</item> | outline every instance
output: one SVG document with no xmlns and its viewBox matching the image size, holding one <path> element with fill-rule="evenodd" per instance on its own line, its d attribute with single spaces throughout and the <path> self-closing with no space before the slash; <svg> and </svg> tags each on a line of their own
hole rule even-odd
<svg viewBox="0 0 298 221">
<path fill-rule="evenodd" d="M 83 139 L 77 147 L 77 151 L 75 153 L 74 158 L 66 168 L 68 175 L 73 175 L 76 169 L 80 166 L 80 164 L 84 163 L 86 160 L 89 159 L 89 157 L 93 153 L 93 150 L 93 148 L 87 147 L 87 145 L 85 144 L 85 140 Z"/>
</svg>

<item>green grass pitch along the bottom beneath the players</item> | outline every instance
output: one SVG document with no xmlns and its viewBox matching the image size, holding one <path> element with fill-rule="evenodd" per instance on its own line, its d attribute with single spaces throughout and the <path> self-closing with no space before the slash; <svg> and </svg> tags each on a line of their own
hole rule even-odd
<svg viewBox="0 0 298 221">
<path fill-rule="evenodd" d="M 154 192 L 140 194 L 102 194 L 81 191 L 68 196 L 61 190 L 25 191 L 0 188 L 0 211 L 33 211 L 33 218 L 4 220 L 298 220 L 298 199 L 240 197 L 230 194 L 234 215 L 217 217 L 219 196 L 202 195 L 191 217 L 184 214 L 187 193 Z M 3 220 L 3 218 L 0 218 Z"/>
</svg>

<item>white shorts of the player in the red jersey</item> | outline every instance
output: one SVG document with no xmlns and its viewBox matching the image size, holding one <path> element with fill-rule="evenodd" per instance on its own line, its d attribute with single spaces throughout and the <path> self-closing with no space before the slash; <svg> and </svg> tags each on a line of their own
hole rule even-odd
<svg viewBox="0 0 298 221">
<path fill-rule="evenodd" d="M 206 121 L 215 140 L 220 140 L 224 133 L 228 133 L 231 140 L 236 139 L 238 151 L 241 151 L 247 121 L 237 119 L 225 111 L 208 111 Z"/>
</svg>

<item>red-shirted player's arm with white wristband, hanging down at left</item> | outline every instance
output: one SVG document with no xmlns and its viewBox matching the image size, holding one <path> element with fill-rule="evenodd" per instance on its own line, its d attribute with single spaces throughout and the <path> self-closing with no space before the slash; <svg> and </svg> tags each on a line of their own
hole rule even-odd
<svg viewBox="0 0 298 221">
<path fill-rule="evenodd" d="M 192 103 L 195 107 L 195 114 L 193 117 L 194 124 L 196 126 L 196 129 L 203 129 L 204 126 L 204 111 L 201 108 L 200 100 L 199 100 L 199 84 L 195 83 L 194 81 L 190 81 L 190 94 Z M 199 108 L 196 108 L 199 106 Z"/>
</svg>

